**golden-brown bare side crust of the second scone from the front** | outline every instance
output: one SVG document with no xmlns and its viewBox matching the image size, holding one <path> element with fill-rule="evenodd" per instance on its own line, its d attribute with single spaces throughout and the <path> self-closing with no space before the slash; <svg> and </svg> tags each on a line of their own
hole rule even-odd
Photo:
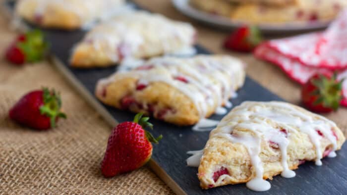
<svg viewBox="0 0 347 195">
<path fill-rule="evenodd" d="M 118 80 L 116 83 L 112 83 L 106 88 L 106 98 L 100 96 L 98 96 L 98 98 L 102 99 L 102 101 L 108 105 L 121 109 L 121 99 L 131 95 L 136 102 L 146 102 L 147 106 L 142 106 L 141 108 L 133 104 L 127 109 L 134 113 L 142 111 L 147 115 L 153 114 L 156 118 L 159 117 L 159 110 L 164 110 L 166 108 L 173 109 L 175 113 L 167 114 L 165 121 L 179 126 L 193 125 L 199 120 L 198 112 L 192 101 L 187 99 L 187 97 L 177 89 L 165 83 L 158 82 L 153 83 L 144 90 L 136 91 L 136 82 L 137 79 L 133 78 Z M 176 105 L 173 105 L 173 102 L 177 102 Z M 156 106 L 154 113 L 149 113 L 149 105 Z M 211 114 L 210 111 L 208 116 Z"/>
</svg>

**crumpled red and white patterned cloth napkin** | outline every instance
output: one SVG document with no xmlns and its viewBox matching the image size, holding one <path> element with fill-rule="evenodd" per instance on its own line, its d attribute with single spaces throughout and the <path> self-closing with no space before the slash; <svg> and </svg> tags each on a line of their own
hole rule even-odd
<svg viewBox="0 0 347 195">
<path fill-rule="evenodd" d="M 267 41 L 254 50 L 260 59 L 281 67 L 294 81 L 304 84 L 316 73 L 338 71 L 347 106 L 347 10 L 324 32 Z"/>
</svg>

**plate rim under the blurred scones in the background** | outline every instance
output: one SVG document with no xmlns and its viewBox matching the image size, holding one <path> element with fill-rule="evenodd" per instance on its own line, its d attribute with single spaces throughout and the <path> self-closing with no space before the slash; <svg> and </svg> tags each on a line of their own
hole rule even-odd
<svg viewBox="0 0 347 195">
<path fill-rule="evenodd" d="M 183 14 L 204 22 L 213 27 L 219 27 L 226 30 L 231 30 L 244 23 L 240 21 L 233 21 L 230 18 L 210 14 L 204 11 L 200 11 L 189 4 L 189 0 L 172 0 L 173 5 L 177 10 Z M 310 23 L 287 23 L 287 24 L 259 24 L 259 29 L 264 33 L 278 33 L 278 32 L 300 32 L 300 31 L 312 31 L 326 28 L 330 22 L 310 22 Z"/>
</svg>

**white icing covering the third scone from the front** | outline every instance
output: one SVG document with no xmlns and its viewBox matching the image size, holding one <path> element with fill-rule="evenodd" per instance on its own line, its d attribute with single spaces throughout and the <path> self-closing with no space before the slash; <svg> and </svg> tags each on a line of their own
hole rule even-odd
<svg viewBox="0 0 347 195">
<path fill-rule="evenodd" d="M 195 49 L 191 47 L 194 34 L 195 30 L 190 24 L 172 21 L 147 11 L 127 11 L 114 14 L 112 18 L 93 28 L 84 42 L 93 43 L 96 49 L 106 51 L 116 63 L 121 61 L 120 52 L 122 58 L 140 58 L 148 55 L 145 52 L 147 50 L 151 51 L 151 55 L 195 54 Z"/>
</svg>

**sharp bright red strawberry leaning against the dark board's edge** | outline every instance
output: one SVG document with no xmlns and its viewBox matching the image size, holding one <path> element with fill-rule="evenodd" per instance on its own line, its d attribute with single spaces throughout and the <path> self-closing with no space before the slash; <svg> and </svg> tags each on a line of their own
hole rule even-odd
<svg viewBox="0 0 347 195">
<path fill-rule="evenodd" d="M 123 122 L 116 126 L 109 138 L 101 164 L 101 171 L 105 177 L 135 170 L 151 158 L 151 143 L 158 144 L 162 135 L 154 138 L 144 130 L 147 126 L 153 128 L 148 120 L 149 117 L 142 118 L 142 113 L 138 113 L 133 122 Z"/>
</svg>

